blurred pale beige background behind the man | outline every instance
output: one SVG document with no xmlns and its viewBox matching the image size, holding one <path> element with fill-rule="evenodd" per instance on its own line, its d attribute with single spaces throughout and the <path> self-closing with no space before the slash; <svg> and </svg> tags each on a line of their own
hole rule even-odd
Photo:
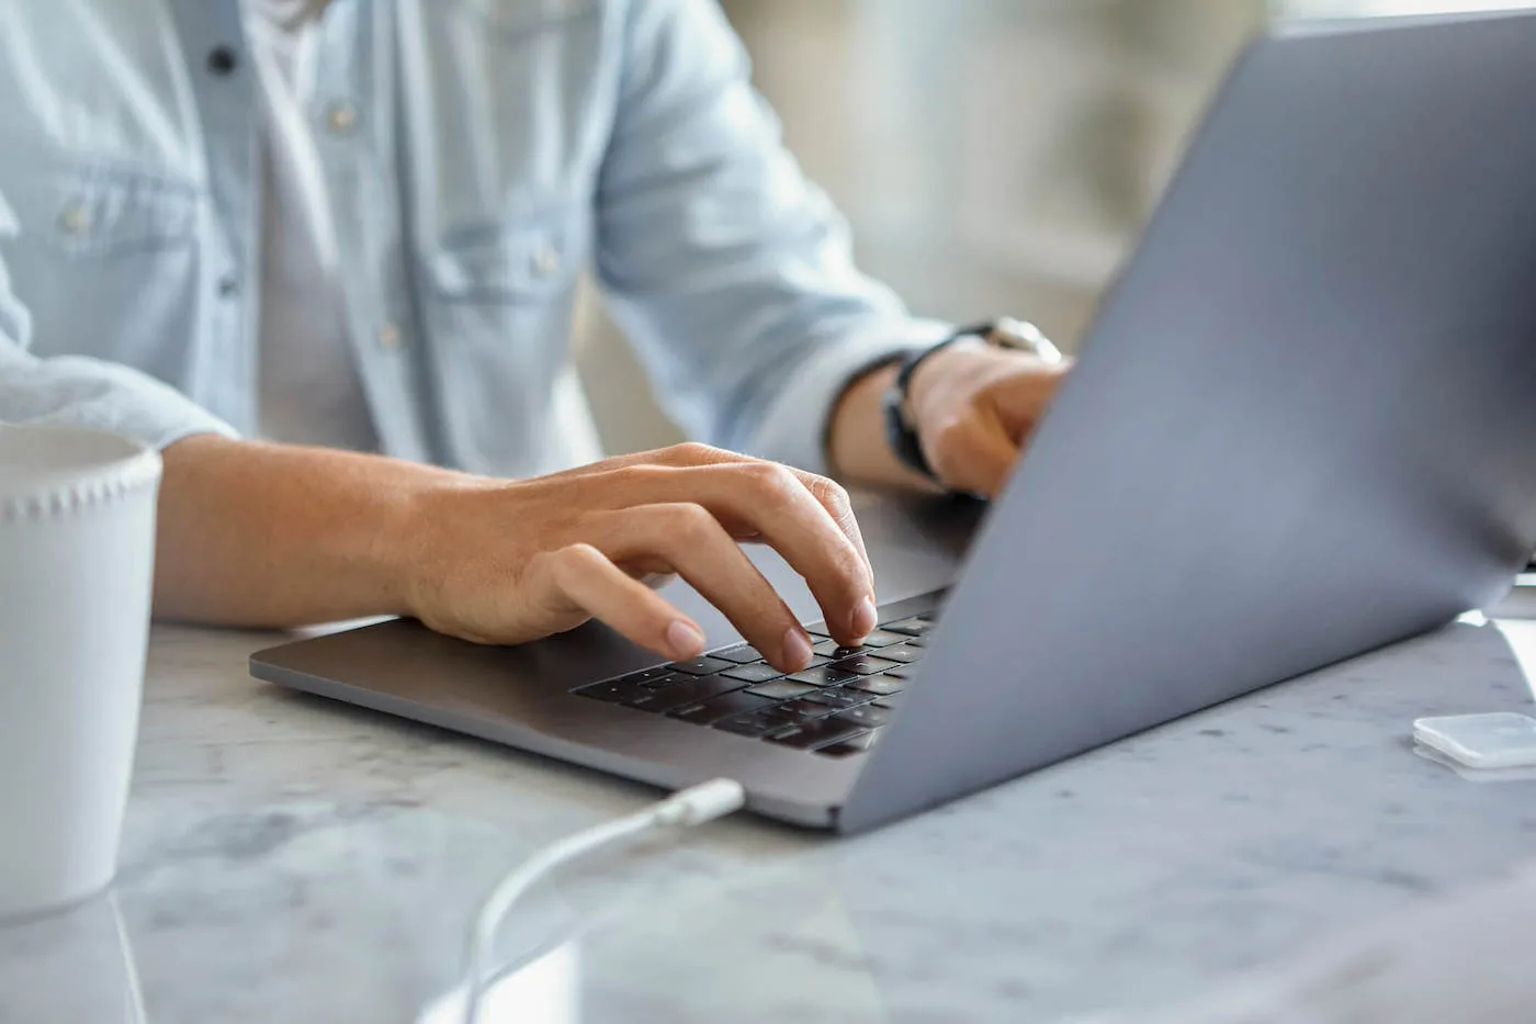
<svg viewBox="0 0 1536 1024">
<path fill-rule="evenodd" d="M 720 0 L 860 266 L 914 312 L 1017 315 L 1077 347 L 1221 74 L 1276 18 L 1476 0 Z M 578 364 L 610 454 L 677 429 L 585 289 Z"/>
</svg>

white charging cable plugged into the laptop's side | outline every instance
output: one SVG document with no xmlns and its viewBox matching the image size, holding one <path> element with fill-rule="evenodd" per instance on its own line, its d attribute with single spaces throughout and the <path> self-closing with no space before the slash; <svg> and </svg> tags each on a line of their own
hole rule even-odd
<svg viewBox="0 0 1536 1024">
<path fill-rule="evenodd" d="M 481 998 L 485 990 L 487 959 L 496 943 L 501 923 L 513 904 L 528 889 L 556 867 L 568 864 L 587 853 L 613 846 L 621 839 L 651 829 L 691 829 L 716 818 L 740 810 L 746 803 L 742 784 L 730 778 L 717 778 L 679 790 L 645 810 L 578 832 L 544 847 L 531 858 L 507 873 L 485 896 L 464 943 L 464 1024 L 479 1019 Z"/>
</svg>

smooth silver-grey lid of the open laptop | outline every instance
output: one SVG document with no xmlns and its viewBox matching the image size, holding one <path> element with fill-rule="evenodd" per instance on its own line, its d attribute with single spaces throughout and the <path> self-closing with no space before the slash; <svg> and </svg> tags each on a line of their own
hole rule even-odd
<svg viewBox="0 0 1536 1024">
<path fill-rule="evenodd" d="M 1536 541 L 1531 54 L 1528 15 L 1250 48 L 842 829 L 1508 586 Z"/>
</svg>

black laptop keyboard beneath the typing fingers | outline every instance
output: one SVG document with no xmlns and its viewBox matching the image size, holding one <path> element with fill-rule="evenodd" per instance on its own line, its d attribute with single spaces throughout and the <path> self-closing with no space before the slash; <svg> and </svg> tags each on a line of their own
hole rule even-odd
<svg viewBox="0 0 1536 1024">
<path fill-rule="evenodd" d="M 748 644 L 581 686 L 573 693 L 840 758 L 862 753 L 902 703 L 938 612 L 882 621 L 859 647 L 811 627 L 813 658 L 779 672 Z"/>
</svg>

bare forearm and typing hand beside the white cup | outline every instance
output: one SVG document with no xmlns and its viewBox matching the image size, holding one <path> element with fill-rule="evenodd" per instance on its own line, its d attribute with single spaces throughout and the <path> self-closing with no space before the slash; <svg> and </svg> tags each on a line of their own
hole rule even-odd
<svg viewBox="0 0 1536 1024">
<path fill-rule="evenodd" d="M 645 584 L 679 574 L 794 672 L 811 641 L 739 546 L 762 541 L 805 577 L 834 638 L 851 644 L 876 624 L 843 489 L 702 444 L 519 481 L 217 437 L 164 458 L 158 615 L 240 626 L 413 615 L 481 643 L 599 618 L 690 658 L 703 632 Z"/>
</svg>

